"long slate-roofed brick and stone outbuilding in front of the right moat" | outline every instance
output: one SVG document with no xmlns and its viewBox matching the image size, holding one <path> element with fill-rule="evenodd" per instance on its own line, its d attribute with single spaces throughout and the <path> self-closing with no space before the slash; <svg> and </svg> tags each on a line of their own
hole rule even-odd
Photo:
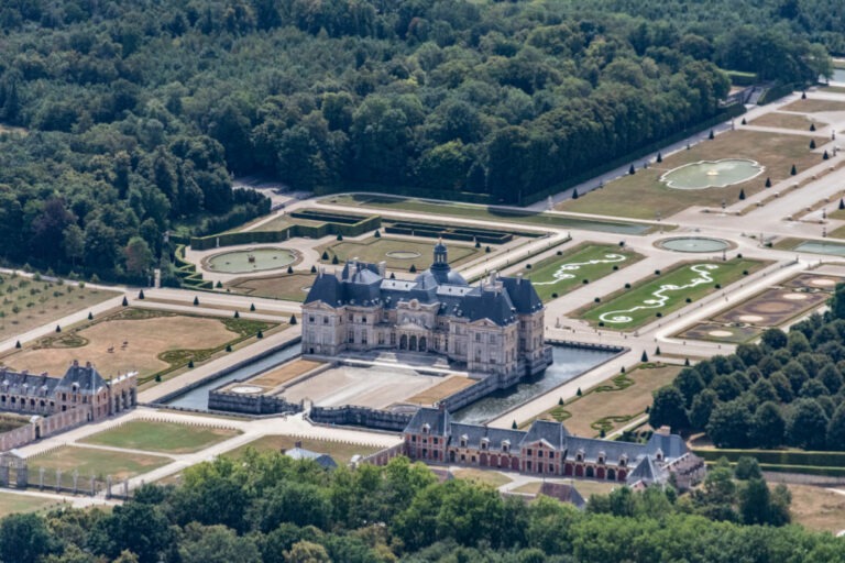
<svg viewBox="0 0 845 563">
<path fill-rule="evenodd" d="M 701 482 L 704 461 L 668 431 L 645 444 L 570 434 L 563 424 L 536 420 L 529 430 L 506 430 L 453 422 L 446 409 L 422 408 L 403 432 L 411 460 L 493 467 L 549 477 L 592 478 L 632 486 Z"/>
</svg>

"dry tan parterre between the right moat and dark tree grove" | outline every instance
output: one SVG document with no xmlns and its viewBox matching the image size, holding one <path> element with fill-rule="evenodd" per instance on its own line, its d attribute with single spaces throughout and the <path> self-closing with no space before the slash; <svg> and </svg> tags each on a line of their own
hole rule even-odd
<svg viewBox="0 0 845 563">
<path fill-rule="evenodd" d="M 557 406 L 538 418 L 563 422 L 571 433 L 597 437 L 602 429 L 612 432 L 645 413 L 651 394 L 669 385 L 681 367 L 676 365 L 640 366 L 618 374 L 563 406 Z"/>
</svg>

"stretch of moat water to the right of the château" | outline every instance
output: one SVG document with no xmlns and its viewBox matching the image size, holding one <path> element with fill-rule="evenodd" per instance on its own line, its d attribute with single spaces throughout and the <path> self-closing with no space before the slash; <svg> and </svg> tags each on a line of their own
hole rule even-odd
<svg viewBox="0 0 845 563">
<path fill-rule="evenodd" d="M 459 422 L 481 424 L 498 418 L 504 412 L 538 397 L 564 383 L 589 372 L 593 367 L 607 362 L 616 352 L 606 350 L 588 350 L 572 346 L 552 346 L 551 364 L 542 375 L 526 379 L 515 387 L 476 400 L 452 416 Z"/>
</svg>

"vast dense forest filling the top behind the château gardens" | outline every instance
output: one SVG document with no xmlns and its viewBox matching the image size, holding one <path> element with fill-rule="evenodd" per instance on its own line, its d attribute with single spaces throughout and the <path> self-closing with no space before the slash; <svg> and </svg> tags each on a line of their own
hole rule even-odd
<svg viewBox="0 0 845 563">
<path fill-rule="evenodd" d="M 792 3 L 7 0 L 0 258 L 143 279 L 266 212 L 232 175 L 523 203 L 718 114 L 720 67 L 828 73 L 842 15 Z"/>
</svg>

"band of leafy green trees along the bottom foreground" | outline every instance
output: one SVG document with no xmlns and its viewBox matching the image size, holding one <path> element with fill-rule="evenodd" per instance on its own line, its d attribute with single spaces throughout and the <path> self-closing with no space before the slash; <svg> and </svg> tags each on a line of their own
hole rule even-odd
<svg viewBox="0 0 845 563">
<path fill-rule="evenodd" d="M 65 509 L 0 521 L 0 561 L 15 563 L 837 563 L 845 540 L 782 525 L 788 493 L 746 464 L 712 472 L 695 496 L 627 487 L 586 510 L 437 482 L 407 459 L 327 472 L 248 452 L 147 485 L 113 510 Z M 738 498 L 737 519 L 724 521 Z M 704 510 L 706 509 L 706 510 Z M 702 516 L 706 514 L 706 516 Z M 775 515 L 776 520 L 770 521 Z M 720 521 L 722 520 L 722 521 Z"/>
</svg>

